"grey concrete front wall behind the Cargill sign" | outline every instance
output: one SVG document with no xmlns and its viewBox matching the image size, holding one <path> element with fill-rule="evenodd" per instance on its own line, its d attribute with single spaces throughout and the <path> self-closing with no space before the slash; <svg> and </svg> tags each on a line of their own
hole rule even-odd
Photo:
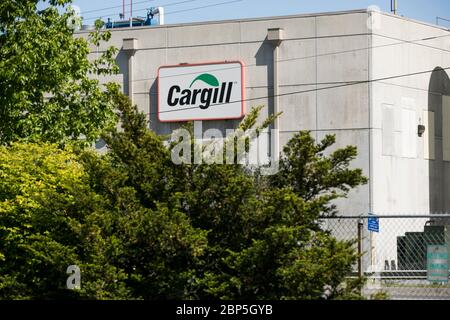
<svg viewBox="0 0 450 320">
<path fill-rule="evenodd" d="M 150 128 L 168 134 L 179 123 L 157 119 L 157 69 L 162 65 L 223 60 L 245 64 L 246 109 L 264 105 L 261 119 L 273 108 L 273 47 L 268 28 L 283 28 L 280 46 L 280 143 L 299 130 L 311 130 L 317 139 L 336 134 L 335 148 L 356 145 L 354 167 L 369 176 L 370 33 L 368 13 L 353 11 L 266 19 L 167 25 L 113 30 L 109 45 L 122 47 L 126 38 L 138 39 L 135 55 L 134 101 L 151 121 Z M 80 36 L 86 34 L 80 33 Z M 100 47 L 98 50 L 104 50 Z M 114 78 L 128 92 L 127 55 L 117 56 L 121 75 Z M 209 128 L 235 128 L 239 121 L 204 121 Z M 342 214 L 369 210 L 369 186 L 352 191 L 337 202 Z"/>
</svg>

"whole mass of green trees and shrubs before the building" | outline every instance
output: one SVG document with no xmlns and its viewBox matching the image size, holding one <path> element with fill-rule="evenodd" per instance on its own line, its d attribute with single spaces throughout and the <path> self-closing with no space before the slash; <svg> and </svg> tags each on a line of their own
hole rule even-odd
<svg viewBox="0 0 450 320">
<path fill-rule="evenodd" d="M 101 22 L 86 41 L 68 23 L 70 0 L 38 2 L 0 2 L 0 299 L 320 299 L 324 286 L 361 298 L 362 279 L 347 278 L 354 243 L 320 225 L 367 182 L 350 168 L 356 148 L 328 153 L 334 136 L 300 132 L 273 176 L 177 165 L 177 142 L 149 131 L 117 85 L 100 86 L 117 71 L 114 48 L 88 59 L 110 37 Z M 240 163 L 279 116 L 257 125 L 260 110 L 206 159 L 232 148 Z M 107 154 L 79 148 L 101 131 Z M 188 143 L 191 159 L 208 149 Z M 66 289 L 69 265 L 80 290 Z"/>
</svg>

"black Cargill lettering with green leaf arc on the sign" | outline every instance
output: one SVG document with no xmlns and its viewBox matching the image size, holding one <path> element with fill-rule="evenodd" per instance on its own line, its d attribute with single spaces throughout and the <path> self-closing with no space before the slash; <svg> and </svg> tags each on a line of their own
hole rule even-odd
<svg viewBox="0 0 450 320">
<path fill-rule="evenodd" d="M 192 89 L 192 86 L 200 82 L 203 88 Z M 233 82 L 222 82 L 210 73 L 202 73 L 194 78 L 189 88 L 182 89 L 178 85 L 170 87 L 167 96 L 167 104 L 175 106 L 196 106 L 200 109 L 208 109 L 211 104 L 229 103 Z"/>
</svg>

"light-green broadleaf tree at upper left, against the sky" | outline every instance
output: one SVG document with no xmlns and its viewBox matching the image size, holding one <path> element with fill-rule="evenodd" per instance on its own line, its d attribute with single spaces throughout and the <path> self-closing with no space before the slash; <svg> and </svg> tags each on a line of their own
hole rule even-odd
<svg viewBox="0 0 450 320">
<path fill-rule="evenodd" d="M 46 8 L 38 10 L 38 2 Z M 69 3 L 0 2 L 0 144 L 19 139 L 90 143 L 116 123 L 110 96 L 118 87 L 102 87 L 98 80 L 117 71 L 116 49 L 88 59 L 90 46 L 107 41 L 110 33 L 100 32 L 97 22 L 89 40 L 74 36 Z"/>
</svg>

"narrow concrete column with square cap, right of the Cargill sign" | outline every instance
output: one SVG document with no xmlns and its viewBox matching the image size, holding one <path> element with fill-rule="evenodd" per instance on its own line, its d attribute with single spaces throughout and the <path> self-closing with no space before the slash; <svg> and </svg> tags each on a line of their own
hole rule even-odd
<svg viewBox="0 0 450 320">
<path fill-rule="evenodd" d="M 270 41 L 274 47 L 273 49 L 273 114 L 279 112 L 279 73 L 278 61 L 280 56 L 280 44 L 283 41 L 283 29 L 273 28 L 268 29 L 267 40 Z M 271 157 L 273 161 L 278 161 L 280 156 L 280 132 L 279 119 L 276 118 L 273 123 L 273 130 L 271 131 Z"/>
</svg>

